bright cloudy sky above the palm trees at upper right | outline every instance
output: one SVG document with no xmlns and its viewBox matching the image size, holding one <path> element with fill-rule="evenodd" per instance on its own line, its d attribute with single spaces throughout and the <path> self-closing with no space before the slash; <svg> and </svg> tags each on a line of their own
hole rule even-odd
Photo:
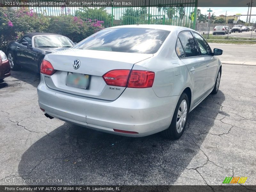
<svg viewBox="0 0 256 192">
<path fill-rule="evenodd" d="M 255 2 L 256 3 L 256 2 Z M 208 14 L 207 10 L 209 10 L 209 7 L 198 7 L 198 9 L 201 10 L 202 14 Z M 242 15 L 247 15 L 248 12 L 248 7 L 211 7 L 211 14 L 214 13 L 214 15 L 219 16 L 219 15 L 225 15 L 227 11 L 227 16 L 228 15 L 235 15 L 236 13 L 241 13 Z M 251 7 L 249 9 L 249 14 L 250 14 Z M 256 7 L 252 7 L 252 14 L 256 15 Z M 240 20 L 246 21 L 247 16 L 241 16 Z M 256 21 L 256 16 L 251 16 L 251 22 L 255 23 Z"/>
</svg>

